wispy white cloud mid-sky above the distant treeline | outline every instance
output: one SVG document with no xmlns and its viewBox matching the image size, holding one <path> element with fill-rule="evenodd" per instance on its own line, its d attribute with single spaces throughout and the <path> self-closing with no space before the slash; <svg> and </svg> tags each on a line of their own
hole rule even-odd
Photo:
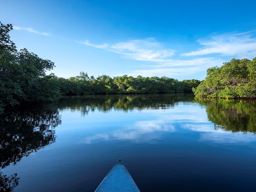
<svg viewBox="0 0 256 192">
<path fill-rule="evenodd" d="M 140 68 L 138 70 L 125 72 L 130 76 L 189 76 L 198 72 L 206 72 L 208 68 L 226 62 L 226 60 L 213 57 L 193 58 L 190 60 L 173 59 L 175 50 L 165 48 L 154 38 L 128 40 L 112 45 L 95 45 L 89 41 L 84 42 L 84 44 L 95 48 L 104 48 L 132 60 L 148 61 L 146 64 L 144 62 L 139 66 L 135 66 Z"/>
</svg>

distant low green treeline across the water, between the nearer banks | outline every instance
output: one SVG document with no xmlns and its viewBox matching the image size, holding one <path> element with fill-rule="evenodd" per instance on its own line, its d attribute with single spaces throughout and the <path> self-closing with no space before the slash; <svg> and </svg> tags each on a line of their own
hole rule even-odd
<svg viewBox="0 0 256 192">
<path fill-rule="evenodd" d="M 111 78 L 102 75 L 89 78 L 87 73 L 80 72 L 80 76 L 69 79 L 58 78 L 62 95 L 87 94 L 154 94 L 154 93 L 182 93 L 192 92 L 192 88 L 200 84 L 199 80 L 184 80 L 167 77 L 142 77 L 123 75 Z"/>
</svg>

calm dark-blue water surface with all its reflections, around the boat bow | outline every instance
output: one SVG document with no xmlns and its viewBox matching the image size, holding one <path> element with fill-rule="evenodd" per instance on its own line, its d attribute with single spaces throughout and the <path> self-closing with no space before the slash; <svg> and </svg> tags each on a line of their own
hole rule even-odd
<svg viewBox="0 0 256 192">
<path fill-rule="evenodd" d="M 121 158 L 141 192 L 256 191 L 255 133 L 255 102 L 64 98 L 1 119 L 0 182 L 14 192 L 94 192 Z"/>
</svg>

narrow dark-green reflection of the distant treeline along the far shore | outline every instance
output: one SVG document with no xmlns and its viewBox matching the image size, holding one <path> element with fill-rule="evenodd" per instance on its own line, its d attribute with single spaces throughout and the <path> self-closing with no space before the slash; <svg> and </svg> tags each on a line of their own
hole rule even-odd
<svg viewBox="0 0 256 192">
<path fill-rule="evenodd" d="M 109 110 L 142 110 L 173 108 L 176 102 L 191 101 L 193 95 L 150 94 L 150 95 L 106 95 L 87 97 L 66 97 L 60 100 L 60 109 L 80 110 L 83 115 L 95 109 L 107 112 Z"/>
</svg>

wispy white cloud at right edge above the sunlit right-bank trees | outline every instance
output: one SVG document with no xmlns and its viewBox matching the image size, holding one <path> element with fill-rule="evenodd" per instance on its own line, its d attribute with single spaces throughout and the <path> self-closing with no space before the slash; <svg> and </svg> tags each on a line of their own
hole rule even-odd
<svg viewBox="0 0 256 192">
<path fill-rule="evenodd" d="M 202 56 L 222 54 L 236 58 L 251 58 L 256 55 L 256 38 L 251 32 L 228 33 L 199 39 L 204 48 L 181 54 L 182 56 Z"/>
</svg>

